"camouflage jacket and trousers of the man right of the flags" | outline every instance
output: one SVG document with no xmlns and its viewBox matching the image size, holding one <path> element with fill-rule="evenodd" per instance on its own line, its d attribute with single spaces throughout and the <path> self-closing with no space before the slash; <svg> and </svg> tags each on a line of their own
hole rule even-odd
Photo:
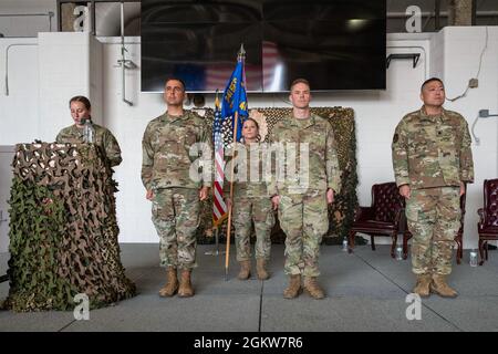
<svg viewBox="0 0 498 354">
<path fill-rule="evenodd" d="M 273 176 L 268 192 L 280 196 L 279 220 L 287 236 L 286 274 L 318 277 L 320 243 L 329 229 L 326 190 L 332 188 L 339 192 L 340 189 L 332 126 L 315 114 L 308 119 L 290 115 L 273 127 L 270 142 L 283 143 L 283 148 L 289 143 L 297 144 L 295 154 L 286 155 L 283 159 L 286 170 L 297 159 L 300 166 L 300 148 L 303 144 L 309 146 L 309 170 L 284 179 Z"/>
</svg>

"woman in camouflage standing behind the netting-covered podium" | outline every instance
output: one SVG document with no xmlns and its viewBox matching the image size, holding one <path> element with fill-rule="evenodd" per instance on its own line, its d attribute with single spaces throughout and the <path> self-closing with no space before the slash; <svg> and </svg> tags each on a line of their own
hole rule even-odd
<svg viewBox="0 0 498 354">
<path fill-rule="evenodd" d="M 92 119 L 91 104 L 89 98 L 84 96 L 74 96 L 70 100 L 71 116 L 74 124 L 63 128 L 56 136 L 55 142 L 82 144 L 83 136 L 83 119 Z M 121 157 L 121 148 L 114 135 L 103 126 L 92 123 L 95 128 L 94 144 L 101 148 L 111 167 L 117 166 L 123 160 Z"/>
</svg>

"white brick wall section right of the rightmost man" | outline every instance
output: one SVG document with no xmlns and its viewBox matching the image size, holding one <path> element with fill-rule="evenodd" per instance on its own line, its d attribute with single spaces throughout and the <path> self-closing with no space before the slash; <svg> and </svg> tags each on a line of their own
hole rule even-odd
<svg viewBox="0 0 498 354">
<path fill-rule="evenodd" d="M 478 111 L 489 108 L 498 113 L 498 27 L 488 27 L 488 45 L 483 55 L 479 74 L 479 86 L 470 88 L 467 96 L 448 102 L 446 108 L 461 113 L 469 124 L 476 118 Z M 479 58 L 485 48 L 485 27 L 445 28 L 444 37 L 444 77 L 447 97 L 460 95 L 468 80 L 476 76 Z M 477 247 L 477 209 L 483 206 L 483 181 L 498 178 L 498 117 L 479 119 L 475 129 L 480 145 L 473 144 L 475 183 L 468 188 L 467 215 L 465 219 L 464 247 Z"/>
</svg>

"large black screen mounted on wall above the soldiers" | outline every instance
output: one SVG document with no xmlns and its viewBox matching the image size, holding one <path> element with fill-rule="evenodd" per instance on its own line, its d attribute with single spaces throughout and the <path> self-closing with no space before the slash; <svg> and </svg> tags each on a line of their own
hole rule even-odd
<svg viewBox="0 0 498 354">
<path fill-rule="evenodd" d="M 385 88 L 385 0 L 142 0 L 141 27 L 142 92 L 222 91 L 241 43 L 249 92 Z"/>
</svg>

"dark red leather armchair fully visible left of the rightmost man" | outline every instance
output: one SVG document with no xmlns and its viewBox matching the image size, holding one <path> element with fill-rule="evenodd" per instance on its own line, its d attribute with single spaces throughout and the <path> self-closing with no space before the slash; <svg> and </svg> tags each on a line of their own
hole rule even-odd
<svg viewBox="0 0 498 354">
<path fill-rule="evenodd" d="M 372 250 L 375 251 L 375 236 L 390 236 L 393 240 L 391 257 L 394 258 L 397 233 L 402 226 L 405 200 L 394 181 L 372 186 L 372 206 L 359 207 L 354 215 L 353 225 L 349 235 L 349 252 L 354 248 L 356 232 L 370 235 Z"/>
</svg>

